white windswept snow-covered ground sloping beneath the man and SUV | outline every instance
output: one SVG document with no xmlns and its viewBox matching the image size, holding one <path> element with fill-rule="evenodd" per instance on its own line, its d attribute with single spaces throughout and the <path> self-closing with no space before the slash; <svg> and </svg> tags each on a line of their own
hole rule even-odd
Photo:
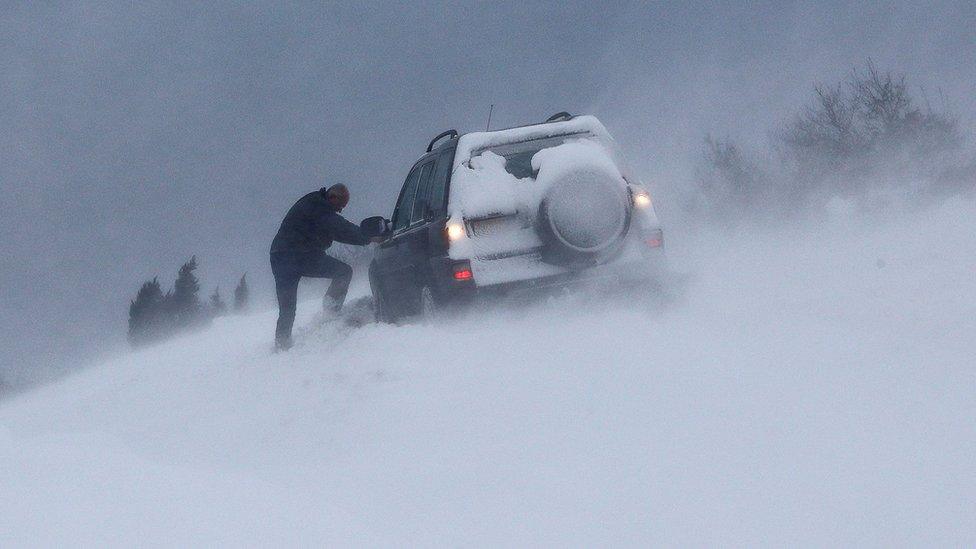
<svg viewBox="0 0 976 549">
<path fill-rule="evenodd" d="M 221 319 L 0 404 L 0 546 L 972 546 L 974 219 L 672 231 L 665 304 L 284 355 Z"/>
</svg>

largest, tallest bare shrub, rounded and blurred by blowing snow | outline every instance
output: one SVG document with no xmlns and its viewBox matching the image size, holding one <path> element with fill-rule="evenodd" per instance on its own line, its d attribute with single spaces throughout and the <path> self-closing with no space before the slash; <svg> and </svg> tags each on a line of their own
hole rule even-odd
<svg viewBox="0 0 976 549">
<path fill-rule="evenodd" d="M 809 193 L 861 197 L 877 187 L 925 187 L 958 164 L 955 116 L 921 108 L 904 75 L 851 71 L 816 97 L 779 132 L 792 176 Z M 927 102 L 926 102 L 927 103 Z"/>
</svg>

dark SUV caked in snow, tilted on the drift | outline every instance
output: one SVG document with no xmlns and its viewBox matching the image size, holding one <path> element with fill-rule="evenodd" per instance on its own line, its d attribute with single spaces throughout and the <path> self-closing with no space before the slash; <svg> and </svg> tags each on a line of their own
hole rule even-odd
<svg viewBox="0 0 976 549">
<path fill-rule="evenodd" d="M 651 196 L 593 116 L 438 135 L 407 175 L 390 229 L 369 266 L 387 322 L 478 295 L 652 277 L 663 262 Z"/>
</svg>

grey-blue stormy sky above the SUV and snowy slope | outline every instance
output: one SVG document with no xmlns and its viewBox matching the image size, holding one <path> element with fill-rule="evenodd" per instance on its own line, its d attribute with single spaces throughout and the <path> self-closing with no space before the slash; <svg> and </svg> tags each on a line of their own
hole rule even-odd
<svg viewBox="0 0 976 549">
<path fill-rule="evenodd" d="M 972 130 L 972 2 L 5 4 L 0 376 L 123 348 L 141 282 L 194 254 L 205 294 L 248 272 L 270 306 L 295 199 L 343 182 L 349 218 L 389 216 L 490 104 L 600 117 L 667 223 L 706 133 L 758 148 L 868 58 Z"/>
</svg>

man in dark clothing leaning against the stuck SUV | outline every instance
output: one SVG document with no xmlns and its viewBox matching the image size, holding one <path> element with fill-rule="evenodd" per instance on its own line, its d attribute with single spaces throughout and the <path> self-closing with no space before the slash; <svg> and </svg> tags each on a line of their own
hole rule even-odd
<svg viewBox="0 0 976 549">
<path fill-rule="evenodd" d="M 349 204 L 349 189 L 337 184 L 303 196 L 285 214 L 271 242 L 271 272 L 278 294 L 278 326 L 275 349 L 291 347 L 298 282 L 303 276 L 331 278 L 325 305 L 338 312 L 346 299 L 352 267 L 325 254 L 333 241 L 365 246 L 380 238 L 368 238 L 360 228 L 339 215 Z"/>
</svg>

